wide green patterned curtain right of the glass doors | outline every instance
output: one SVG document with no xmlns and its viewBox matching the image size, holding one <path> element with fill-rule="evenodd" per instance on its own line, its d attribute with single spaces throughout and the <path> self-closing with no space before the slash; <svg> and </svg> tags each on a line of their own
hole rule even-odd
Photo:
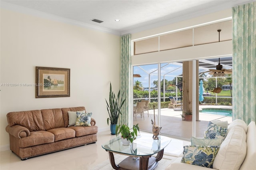
<svg viewBox="0 0 256 170">
<path fill-rule="evenodd" d="M 256 121 L 256 2 L 232 8 L 233 117 Z"/>
</svg>

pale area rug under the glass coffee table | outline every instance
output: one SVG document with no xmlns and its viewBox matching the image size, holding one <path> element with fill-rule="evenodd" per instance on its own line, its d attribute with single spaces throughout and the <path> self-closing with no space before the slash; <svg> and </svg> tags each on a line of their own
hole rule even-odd
<svg viewBox="0 0 256 170">
<path fill-rule="evenodd" d="M 120 163 L 122 160 L 127 158 L 127 156 L 120 155 L 120 154 L 115 154 L 115 162 L 116 164 Z M 169 166 L 174 160 L 176 160 L 177 157 L 175 156 L 169 156 L 169 155 L 164 155 L 163 158 L 158 161 L 158 165 L 156 166 L 155 170 L 164 170 L 167 166 Z M 110 164 L 110 160 L 105 160 L 101 164 L 98 164 L 91 170 L 114 170 Z"/>
</svg>

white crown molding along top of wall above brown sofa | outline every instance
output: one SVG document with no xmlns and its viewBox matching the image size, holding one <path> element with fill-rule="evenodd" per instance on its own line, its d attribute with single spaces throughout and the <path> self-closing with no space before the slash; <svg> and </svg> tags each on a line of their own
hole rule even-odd
<svg viewBox="0 0 256 170">
<path fill-rule="evenodd" d="M 54 21 L 57 21 L 57 22 L 62 22 L 62 23 L 70 24 L 70 25 L 76 25 L 76 26 L 80 26 L 80 27 L 84 27 L 84 28 L 89 28 L 89 29 L 92 29 L 92 30 L 98 30 L 100 32 L 105 32 L 105 33 L 113 34 L 113 35 L 116 35 L 116 36 L 121 35 L 121 33 L 118 32 L 118 31 L 106 29 L 106 28 L 99 27 L 99 26 L 94 26 L 94 25 L 91 25 L 91 24 L 86 24 L 86 23 L 79 22 L 79 21 L 76 21 L 76 20 L 71 20 L 71 19 L 68 19 L 68 18 L 63 18 L 63 17 L 60 17 L 60 16 L 56 16 L 56 15 L 53 15 L 53 14 L 48 14 L 48 13 L 41 12 L 41 11 L 38 11 L 38 10 L 33 10 L 33 9 L 30 9 L 30 8 L 25 8 L 25 7 L 10 4 L 10 3 L 7 3 L 7 2 L 2 2 L 1 1 L 0 2 L 0 7 L 4 8 L 4 9 L 12 10 L 12 11 L 20 12 L 20 13 L 23 13 L 23 14 L 37 16 L 37 17 L 40 17 L 40 18 L 48 19 L 48 20 L 54 20 Z"/>
</svg>

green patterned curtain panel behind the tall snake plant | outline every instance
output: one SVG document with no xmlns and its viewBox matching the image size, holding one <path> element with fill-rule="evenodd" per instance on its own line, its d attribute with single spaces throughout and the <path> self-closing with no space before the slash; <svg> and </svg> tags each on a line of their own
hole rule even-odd
<svg viewBox="0 0 256 170">
<path fill-rule="evenodd" d="M 121 38 L 121 92 L 124 92 L 126 97 L 126 102 L 121 108 L 122 115 L 120 115 L 118 124 L 127 124 L 129 127 L 131 126 L 130 118 L 132 116 L 131 113 L 131 91 L 129 89 L 130 84 L 130 76 L 131 76 L 131 35 L 127 34 L 122 36 Z"/>
</svg>

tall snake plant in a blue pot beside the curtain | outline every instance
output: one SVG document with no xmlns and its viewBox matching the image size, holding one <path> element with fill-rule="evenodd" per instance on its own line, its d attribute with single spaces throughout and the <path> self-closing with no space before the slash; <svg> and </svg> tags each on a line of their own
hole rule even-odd
<svg viewBox="0 0 256 170">
<path fill-rule="evenodd" d="M 106 100 L 106 99 L 105 99 Z M 112 86 L 110 82 L 110 92 L 109 92 L 109 103 L 107 103 L 107 110 L 109 118 L 107 119 L 107 123 L 110 122 L 110 131 L 111 134 L 116 134 L 116 124 L 121 113 L 120 109 L 124 105 L 126 98 L 124 98 L 124 92 L 122 96 L 120 95 L 120 90 L 118 91 L 117 96 L 115 95 L 114 91 L 112 91 Z"/>
</svg>

